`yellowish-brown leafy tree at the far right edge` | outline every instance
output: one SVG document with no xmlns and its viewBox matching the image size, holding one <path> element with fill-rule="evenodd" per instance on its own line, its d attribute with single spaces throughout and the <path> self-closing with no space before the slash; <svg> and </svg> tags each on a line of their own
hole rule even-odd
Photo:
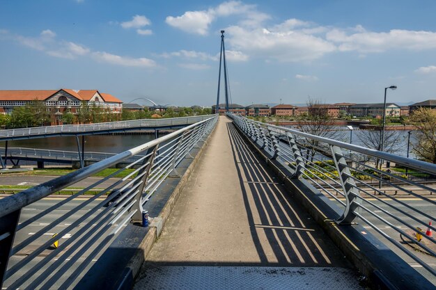
<svg viewBox="0 0 436 290">
<path fill-rule="evenodd" d="M 417 129 L 414 153 L 423 161 L 436 163 L 436 111 L 419 108 L 410 115 L 409 121 Z"/>
</svg>

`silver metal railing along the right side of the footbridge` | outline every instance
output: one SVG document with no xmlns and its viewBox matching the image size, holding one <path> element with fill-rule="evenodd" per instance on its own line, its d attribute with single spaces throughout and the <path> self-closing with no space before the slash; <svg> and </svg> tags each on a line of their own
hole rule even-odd
<svg viewBox="0 0 436 290">
<path fill-rule="evenodd" d="M 401 198 L 397 198 L 396 195 L 385 193 L 382 189 L 383 186 L 385 188 L 386 186 L 395 188 L 396 191 L 412 195 L 414 198 L 421 200 L 423 204 L 434 207 L 436 206 L 436 200 L 414 191 L 419 189 L 430 194 L 436 194 L 436 188 L 419 184 L 403 178 L 403 175 L 396 175 L 373 166 L 373 163 L 381 159 L 392 161 L 407 168 L 417 169 L 429 176 L 435 176 L 435 164 L 407 159 L 403 156 L 371 150 L 295 129 L 257 122 L 239 115 L 228 114 L 228 117 L 233 119 L 233 123 L 248 138 L 265 150 L 267 156 L 270 156 L 271 159 L 277 159 L 277 162 L 283 164 L 285 168 L 289 168 L 290 178 L 310 182 L 319 191 L 332 198 L 339 207 L 343 207 L 343 214 L 341 217 L 336 218 L 336 223 L 352 225 L 355 220 L 359 219 L 373 229 L 375 234 L 379 234 L 380 239 L 395 245 L 426 271 L 436 275 L 433 266 L 416 255 L 414 249 L 407 248 L 407 245 L 391 238 L 385 229 L 389 228 L 400 234 L 403 239 L 413 243 L 413 234 L 421 234 L 416 226 L 435 230 L 435 225 L 428 225 L 428 220 L 435 220 L 435 217 L 427 214 L 419 207 L 413 207 L 401 200 Z M 360 159 L 361 156 L 365 156 L 365 159 Z M 364 171 L 366 169 L 371 170 L 371 172 Z M 413 191 L 412 188 L 407 188 L 403 184 L 413 186 Z M 336 195 L 339 195 L 339 197 L 336 197 Z M 380 207 L 377 202 L 383 204 L 384 207 Z M 386 227 L 376 225 L 371 218 L 378 220 L 379 223 L 386 225 Z M 425 234 L 422 236 L 426 242 L 414 243 L 416 249 L 436 257 L 436 251 L 434 250 L 435 239 L 431 239 Z"/>
</svg>

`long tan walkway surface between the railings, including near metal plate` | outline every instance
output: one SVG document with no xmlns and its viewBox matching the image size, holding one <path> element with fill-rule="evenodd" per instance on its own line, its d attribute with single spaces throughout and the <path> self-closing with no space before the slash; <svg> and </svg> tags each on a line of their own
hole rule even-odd
<svg viewBox="0 0 436 290">
<path fill-rule="evenodd" d="M 357 273 L 220 117 L 134 289 L 361 289 Z"/>
</svg>

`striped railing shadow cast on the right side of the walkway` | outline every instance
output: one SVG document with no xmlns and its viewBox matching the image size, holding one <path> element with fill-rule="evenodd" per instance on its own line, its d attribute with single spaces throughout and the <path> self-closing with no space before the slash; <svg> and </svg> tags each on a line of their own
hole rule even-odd
<svg viewBox="0 0 436 290">
<path fill-rule="evenodd" d="M 263 265 L 270 246 L 277 262 L 274 266 L 346 266 L 348 261 L 309 214 L 295 204 L 291 193 L 267 171 L 233 123 L 227 123 L 233 158 L 249 220 L 251 236 Z M 265 234 L 269 245 L 260 240 Z"/>
</svg>

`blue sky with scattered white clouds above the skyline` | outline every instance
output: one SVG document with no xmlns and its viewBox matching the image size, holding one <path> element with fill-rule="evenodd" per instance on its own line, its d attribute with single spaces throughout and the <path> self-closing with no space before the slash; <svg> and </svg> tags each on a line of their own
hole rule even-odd
<svg viewBox="0 0 436 290">
<path fill-rule="evenodd" d="M 0 89 L 215 104 L 436 98 L 436 1 L 0 0 Z M 224 97 L 221 97 L 224 99 Z M 143 102 L 146 104 L 146 102 Z"/>
</svg>

